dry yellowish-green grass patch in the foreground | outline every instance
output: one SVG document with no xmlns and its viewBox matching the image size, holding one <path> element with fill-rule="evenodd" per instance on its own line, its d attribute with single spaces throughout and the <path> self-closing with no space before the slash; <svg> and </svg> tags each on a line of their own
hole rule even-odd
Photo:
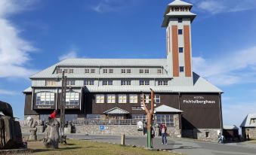
<svg viewBox="0 0 256 155">
<path fill-rule="evenodd" d="M 82 141 L 68 139 L 68 144 L 61 144 L 59 149 L 47 149 L 42 141 L 29 141 L 28 147 L 33 150 L 32 154 L 38 155 L 174 155 L 167 151 L 145 150 L 140 147 L 122 146 L 119 144 L 108 144 L 94 141 Z"/>
</svg>

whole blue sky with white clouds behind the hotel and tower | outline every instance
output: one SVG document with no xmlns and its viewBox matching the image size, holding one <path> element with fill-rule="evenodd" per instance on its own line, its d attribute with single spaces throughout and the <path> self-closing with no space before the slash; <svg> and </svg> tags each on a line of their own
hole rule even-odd
<svg viewBox="0 0 256 155">
<path fill-rule="evenodd" d="M 1 0 L 0 100 L 23 119 L 29 76 L 66 57 L 165 58 L 170 0 Z M 187 0 L 193 69 L 224 90 L 224 124 L 256 112 L 256 2 Z"/>
</svg>

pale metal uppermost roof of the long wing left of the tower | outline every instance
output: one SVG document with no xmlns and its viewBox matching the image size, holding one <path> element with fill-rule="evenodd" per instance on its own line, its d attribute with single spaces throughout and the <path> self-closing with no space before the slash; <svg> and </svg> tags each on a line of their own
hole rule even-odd
<svg viewBox="0 0 256 155">
<path fill-rule="evenodd" d="M 166 59 L 64 59 L 61 62 L 51 65 L 49 68 L 39 71 L 33 74 L 30 78 L 56 78 L 56 74 L 53 74 L 57 66 L 59 67 L 165 67 L 167 66 Z M 108 77 L 107 77 L 108 76 Z M 112 76 L 112 77 L 111 77 Z M 85 74 L 69 74 L 68 78 L 113 78 L 115 75 L 101 75 L 101 77 L 95 77 L 93 75 Z M 123 75 L 127 77 L 129 75 Z M 141 78 L 153 78 L 150 74 L 143 75 Z M 150 77 L 151 76 L 151 77 Z M 122 78 L 122 75 L 119 75 Z M 163 77 L 165 78 L 165 77 Z"/>
</svg>

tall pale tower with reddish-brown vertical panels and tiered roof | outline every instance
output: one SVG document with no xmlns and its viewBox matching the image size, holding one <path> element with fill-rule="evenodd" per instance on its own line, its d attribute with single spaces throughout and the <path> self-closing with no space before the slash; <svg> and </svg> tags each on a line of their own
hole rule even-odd
<svg viewBox="0 0 256 155">
<path fill-rule="evenodd" d="M 196 14 L 192 4 L 175 0 L 168 4 L 162 27 L 166 28 L 168 70 L 171 77 L 193 84 L 190 25 Z"/>
</svg>

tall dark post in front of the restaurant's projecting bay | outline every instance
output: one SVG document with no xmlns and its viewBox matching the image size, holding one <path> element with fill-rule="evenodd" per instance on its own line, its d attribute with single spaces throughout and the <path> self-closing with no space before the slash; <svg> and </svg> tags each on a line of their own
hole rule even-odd
<svg viewBox="0 0 256 155">
<path fill-rule="evenodd" d="M 60 68 L 57 68 L 60 70 Z M 57 81 L 60 81 L 57 78 Z M 66 76 L 65 71 L 62 71 L 61 78 L 61 96 L 60 96 L 60 142 L 63 141 L 62 136 L 64 135 L 65 128 L 65 106 L 66 106 Z"/>
</svg>

